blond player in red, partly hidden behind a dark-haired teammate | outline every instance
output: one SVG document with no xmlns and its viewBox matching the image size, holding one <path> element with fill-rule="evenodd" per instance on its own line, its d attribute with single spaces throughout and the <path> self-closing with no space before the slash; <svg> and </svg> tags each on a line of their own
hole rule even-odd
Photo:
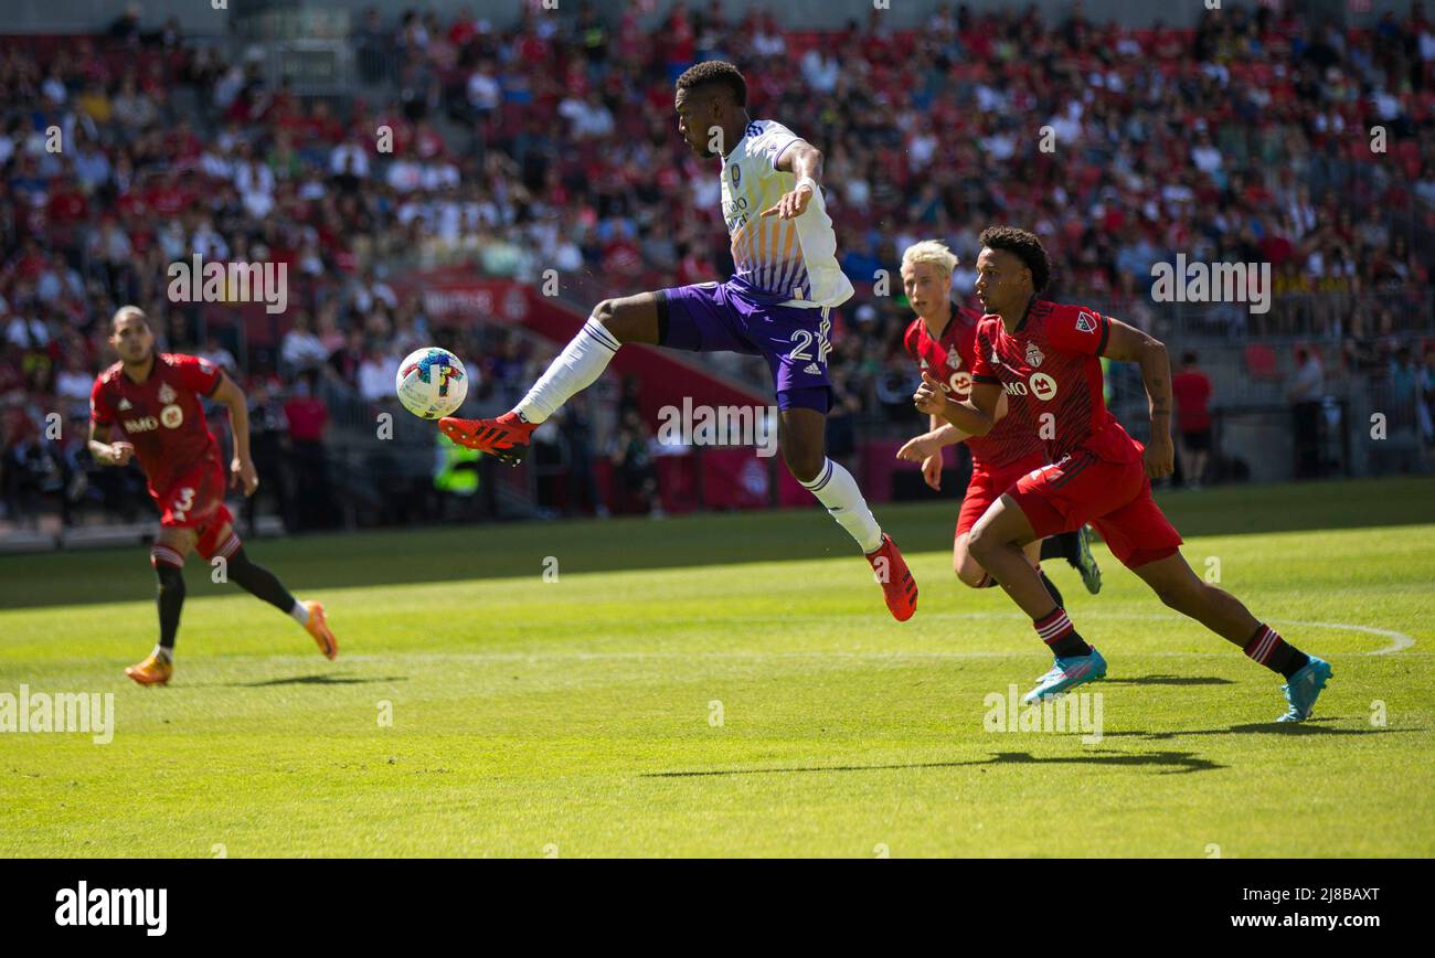
<svg viewBox="0 0 1435 958">
<path fill-rule="evenodd" d="M 903 344 L 917 361 L 923 381 L 940 387 L 956 399 L 971 394 L 971 366 L 976 350 L 976 330 L 982 320 L 974 310 L 951 301 L 951 277 L 960 261 L 957 254 L 938 240 L 923 240 L 903 252 L 901 280 L 917 318 L 907 327 Z M 928 432 L 907 442 L 897 457 L 921 463 L 921 475 L 933 489 L 941 488 L 941 450 L 959 442 L 971 452 L 971 480 L 967 483 L 957 513 L 957 532 L 951 546 L 951 566 L 964 585 L 989 588 L 996 579 L 967 551 L 971 526 L 1009 486 L 1025 473 L 1046 465 L 1045 443 L 1036 433 L 1003 425 L 1006 400 L 999 404 L 997 423 L 986 436 L 971 436 L 951 423 L 931 416 Z M 1043 541 L 1026 546 L 1026 555 L 1042 577 L 1046 588 L 1060 604 L 1060 591 L 1042 572 L 1040 559 L 1065 556 L 1078 572 L 1086 589 L 1101 589 L 1101 569 L 1086 544 L 1086 531 L 1053 536 L 1050 546 Z"/>
</svg>

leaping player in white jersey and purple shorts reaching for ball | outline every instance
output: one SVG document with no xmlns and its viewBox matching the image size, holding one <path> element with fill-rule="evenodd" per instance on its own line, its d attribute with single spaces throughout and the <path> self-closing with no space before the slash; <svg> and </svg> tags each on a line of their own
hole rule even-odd
<svg viewBox="0 0 1435 958">
<path fill-rule="evenodd" d="M 498 419 L 441 419 L 453 442 L 517 465 L 528 439 L 593 384 L 626 343 L 762 356 L 778 394 L 788 469 L 867 555 L 898 621 L 917 610 L 917 582 L 872 518 L 857 480 L 827 457 L 832 404 L 831 311 L 852 295 L 818 178 L 822 153 L 782 123 L 748 116 L 748 83 L 730 63 L 677 77 L 677 129 L 702 159 L 722 159 L 722 212 L 735 275 L 726 283 L 604 300 L 515 409 Z"/>
</svg>

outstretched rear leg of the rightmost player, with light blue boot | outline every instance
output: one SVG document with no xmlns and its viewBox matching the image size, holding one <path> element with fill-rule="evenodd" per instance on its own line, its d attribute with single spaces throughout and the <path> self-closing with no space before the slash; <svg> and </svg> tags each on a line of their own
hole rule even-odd
<svg viewBox="0 0 1435 958">
<path fill-rule="evenodd" d="M 1223 588 L 1198 577 L 1180 552 L 1131 569 L 1157 597 L 1228 642 L 1247 657 L 1286 678 L 1281 691 L 1289 708 L 1277 721 L 1304 721 L 1330 678 L 1330 664 L 1307 655 L 1270 625 L 1251 615 L 1246 605 Z"/>
</svg>

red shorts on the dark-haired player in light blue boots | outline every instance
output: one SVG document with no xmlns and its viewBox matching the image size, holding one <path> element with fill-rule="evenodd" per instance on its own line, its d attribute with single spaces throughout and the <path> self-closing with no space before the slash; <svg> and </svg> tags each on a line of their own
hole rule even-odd
<svg viewBox="0 0 1435 958">
<path fill-rule="evenodd" d="M 1181 548 L 1181 533 L 1151 498 L 1151 480 L 1139 459 L 1106 462 L 1078 449 L 1022 476 L 1012 498 L 1036 538 L 1073 532 L 1089 522 L 1128 569 Z"/>
</svg>

